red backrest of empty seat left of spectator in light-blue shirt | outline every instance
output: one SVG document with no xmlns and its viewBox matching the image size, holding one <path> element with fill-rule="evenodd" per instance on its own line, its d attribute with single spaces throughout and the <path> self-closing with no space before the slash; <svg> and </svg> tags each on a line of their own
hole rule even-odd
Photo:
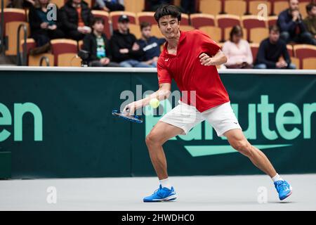
<svg viewBox="0 0 316 225">
<path fill-rule="evenodd" d="M 51 40 L 51 51 L 54 55 L 55 65 L 58 65 L 58 56 L 64 53 L 78 52 L 77 41 L 72 39 L 53 39 Z"/>
</svg>

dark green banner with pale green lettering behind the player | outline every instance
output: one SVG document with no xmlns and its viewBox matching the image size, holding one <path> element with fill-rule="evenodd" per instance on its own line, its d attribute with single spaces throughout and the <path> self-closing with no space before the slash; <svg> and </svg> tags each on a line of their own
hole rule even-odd
<svg viewBox="0 0 316 225">
<path fill-rule="evenodd" d="M 154 176 L 145 136 L 178 104 L 143 108 L 143 124 L 113 109 L 156 91 L 157 72 L 0 71 L 0 152 L 13 178 Z M 273 70 L 275 71 L 275 70 Z M 251 144 L 282 174 L 316 172 L 316 76 L 221 74 Z M 262 174 L 207 122 L 164 144 L 171 176 Z"/>
</svg>

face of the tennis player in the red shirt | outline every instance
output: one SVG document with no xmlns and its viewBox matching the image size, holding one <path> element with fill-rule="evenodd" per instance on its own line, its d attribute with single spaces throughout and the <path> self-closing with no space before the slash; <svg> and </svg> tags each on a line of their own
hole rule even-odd
<svg viewBox="0 0 316 225">
<path fill-rule="evenodd" d="M 159 29 L 166 39 L 178 37 L 180 22 L 177 18 L 166 15 L 159 19 Z"/>
</svg>

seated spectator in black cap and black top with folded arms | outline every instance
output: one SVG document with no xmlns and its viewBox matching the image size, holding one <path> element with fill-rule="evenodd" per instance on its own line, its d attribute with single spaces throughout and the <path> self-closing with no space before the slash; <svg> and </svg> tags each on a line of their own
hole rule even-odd
<svg viewBox="0 0 316 225">
<path fill-rule="evenodd" d="M 136 43 L 136 37 L 129 32 L 129 18 L 121 15 L 118 23 L 119 30 L 114 30 L 111 37 L 113 61 L 122 67 L 150 68 L 150 65 L 140 62 L 143 50 Z"/>
</svg>

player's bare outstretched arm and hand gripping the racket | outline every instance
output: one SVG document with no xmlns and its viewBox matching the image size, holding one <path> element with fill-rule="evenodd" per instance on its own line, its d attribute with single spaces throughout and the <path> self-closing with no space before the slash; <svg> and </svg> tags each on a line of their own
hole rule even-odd
<svg viewBox="0 0 316 225">
<path fill-rule="evenodd" d="M 171 84 L 169 83 L 163 83 L 159 84 L 159 89 L 155 91 L 150 96 L 140 99 L 138 101 L 134 101 L 133 103 L 129 103 L 129 105 L 126 105 L 124 108 L 124 112 L 126 112 L 127 109 L 129 109 L 129 114 L 133 115 L 133 113 L 138 109 L 142 108 L 150 103 L 150 100 L 152 98 L 157 98 L 159 101 L 162 101 L 166 98 L 169 98 L 169 95 L 171 93 Z"/>
</svg>

